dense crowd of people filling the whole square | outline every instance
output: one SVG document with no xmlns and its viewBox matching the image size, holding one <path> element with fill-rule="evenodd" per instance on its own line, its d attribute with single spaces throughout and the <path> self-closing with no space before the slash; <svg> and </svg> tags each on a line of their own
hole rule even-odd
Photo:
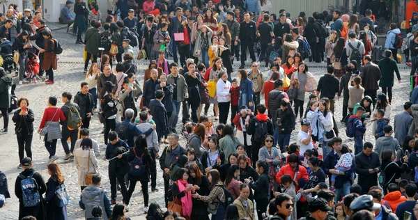
<svg viewBox="0 0 418 220">
<path fill-rule="evenodd" d="M 418 23 L 418 6 L 411 2 L 408 32 Z M 61 107 L 57 97 L 48 97 L 38 129 L 29 99 L 20 97 L 13 113 L 17 168 L 23 169 L 15 182 L 19 219 L 68 219 L 65 177 L 56 163 L 58 139 L 63 160 L 73 160 L 77 169 L 86 219 L 129 219 L 125 212 L 137 182 L 147 219 L 418 218 L 418 87 L 412 85 L 404 111 L 391 116 L 394 74 L 401 83 L 401 32 L 390 24 L 381 46 L 384 58 L 372 56 L 376 45 L 383 45 L 376 38 L 373 3 L 362 5 L 361 19 L 334 10 L 311 17 L 300 13 L 292 21 L 286 10 L 260 11 L 265 1 L 119 0 L 108 1 L 103 26 L 97 3 L 77 0 L 75 17 L 73 4 L 66 2 L 60 20 L 72 26 L 86 51 L 79 92 L 63 92 Z M 46 70 L 47 83 L 53 84 L 57 40 L 40 12 L 33 19 L 30 10 L 24 14 L 15 22 L 20 14 L 11 6 L 0 37 L 20 54 L 20 82 L 27 81 L 26 64 L 36 61 L 28 52 L 33 50 L 42 68 L 31 79 L 41 79 Z M 415 75 L 418 32 L 412 36 L 408 57 Z M 150 61 L 142 87 L 133 47 Z M 231 77 L 234 60 L 241 62 L 238 79 Z M 309 72 L 312 62 L 327 63 L 319 81 Z M 0 68 L 1 134 L 8 133 L 12 86 Z M 341 93 L 342 115 L 336 116 Z M 90 136 L 93 115 L 103 124 L 100 141 Z M 341 139 L 339 120 L 353 142 Z M 374 146 L 364 141 L 369 129 Z M 33 169 L 35 132 L 49 152 L 47 182 Z M 110 196 L 101 186 L 100 159 L 109 162 Z M 149 182 L 151 192 L 160 190 L 158 162 L 167 212 L 163 204 L 149 203 Z M 4 198 L 10 193 L 0 172 L 0 201 Z"/>
</svg>

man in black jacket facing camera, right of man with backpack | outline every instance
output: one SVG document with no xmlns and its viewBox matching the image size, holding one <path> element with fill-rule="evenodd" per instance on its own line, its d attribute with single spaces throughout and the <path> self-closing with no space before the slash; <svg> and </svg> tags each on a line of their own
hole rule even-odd
<svg viewBox="0 0 418 220">
<path fill-rule="evenodd" d="M 82 82 L 82 91 L 79 91 L 74 97 L 74 103 L 80 108 L 80 116 L 82 117 L 82 128 L 90 126 L 91 116 L 93 116 L 93 95 L 88 93 L 88 83 Z"/>
</svg>

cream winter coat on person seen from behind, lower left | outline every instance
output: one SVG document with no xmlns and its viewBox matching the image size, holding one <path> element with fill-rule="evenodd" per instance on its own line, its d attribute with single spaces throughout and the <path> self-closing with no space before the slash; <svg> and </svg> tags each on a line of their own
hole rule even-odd
<svg viewBox="0 0 418 220">
<path fill-rule="evenodd" d="M 90 160 L 88 160 L 88 155 L 90 155 Z M 86 187 L 87 184 L 84 182 L 86 174 L 98 173 L 98 159 L 95 157 L 94 150 L 76 149 L 74 151 L 74 163 L 78 171 L 78 184 L 80 187 Z"/>
</svg>

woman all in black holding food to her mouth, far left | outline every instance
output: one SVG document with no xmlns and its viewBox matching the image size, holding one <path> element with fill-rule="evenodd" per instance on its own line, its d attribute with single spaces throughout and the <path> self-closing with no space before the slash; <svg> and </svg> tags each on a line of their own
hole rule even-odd
<svg viewBox="0 0 418 220">
<path fill-rule="evenodd" d="M 24 157 L 24 151 L 26 151 L 26 157 L 32 159 L 32 138 L 33 138 L 33 121 L 35 120 L 35 115 L 33 114 L 32 109 L 29 109 L 29 100 L 21 97 L 17 100 L 17 106 L 20 109 L 17 109 L 13 113 L 13 122 L 15 123 L 15 132 L 17 136 L 17 144 L 19 145 L 19 166 L 17 168 L 22 168 L 22 159 Z"/>
</svg>

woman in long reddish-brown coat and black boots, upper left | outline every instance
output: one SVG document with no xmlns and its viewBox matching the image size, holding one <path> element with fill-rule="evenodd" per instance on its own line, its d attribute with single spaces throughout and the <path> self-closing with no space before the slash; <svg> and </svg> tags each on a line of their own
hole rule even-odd
<svg viewBox="0 0 418 220">
<path fill-rule="evenodd" d="M 46 70 L 48 74 L 48 79 L 45 80 L 45 84 L 54 84 L 54 70 L 56 70 L 57 66 L 55 54 L 56 41 L 54 40 L 51 31 L 47 29 L 42 31 L 42 36 L 45 38 L 45 49 L 40 50 L 40 52 L 44 53 L 42 70 Z"/>
</svg>

